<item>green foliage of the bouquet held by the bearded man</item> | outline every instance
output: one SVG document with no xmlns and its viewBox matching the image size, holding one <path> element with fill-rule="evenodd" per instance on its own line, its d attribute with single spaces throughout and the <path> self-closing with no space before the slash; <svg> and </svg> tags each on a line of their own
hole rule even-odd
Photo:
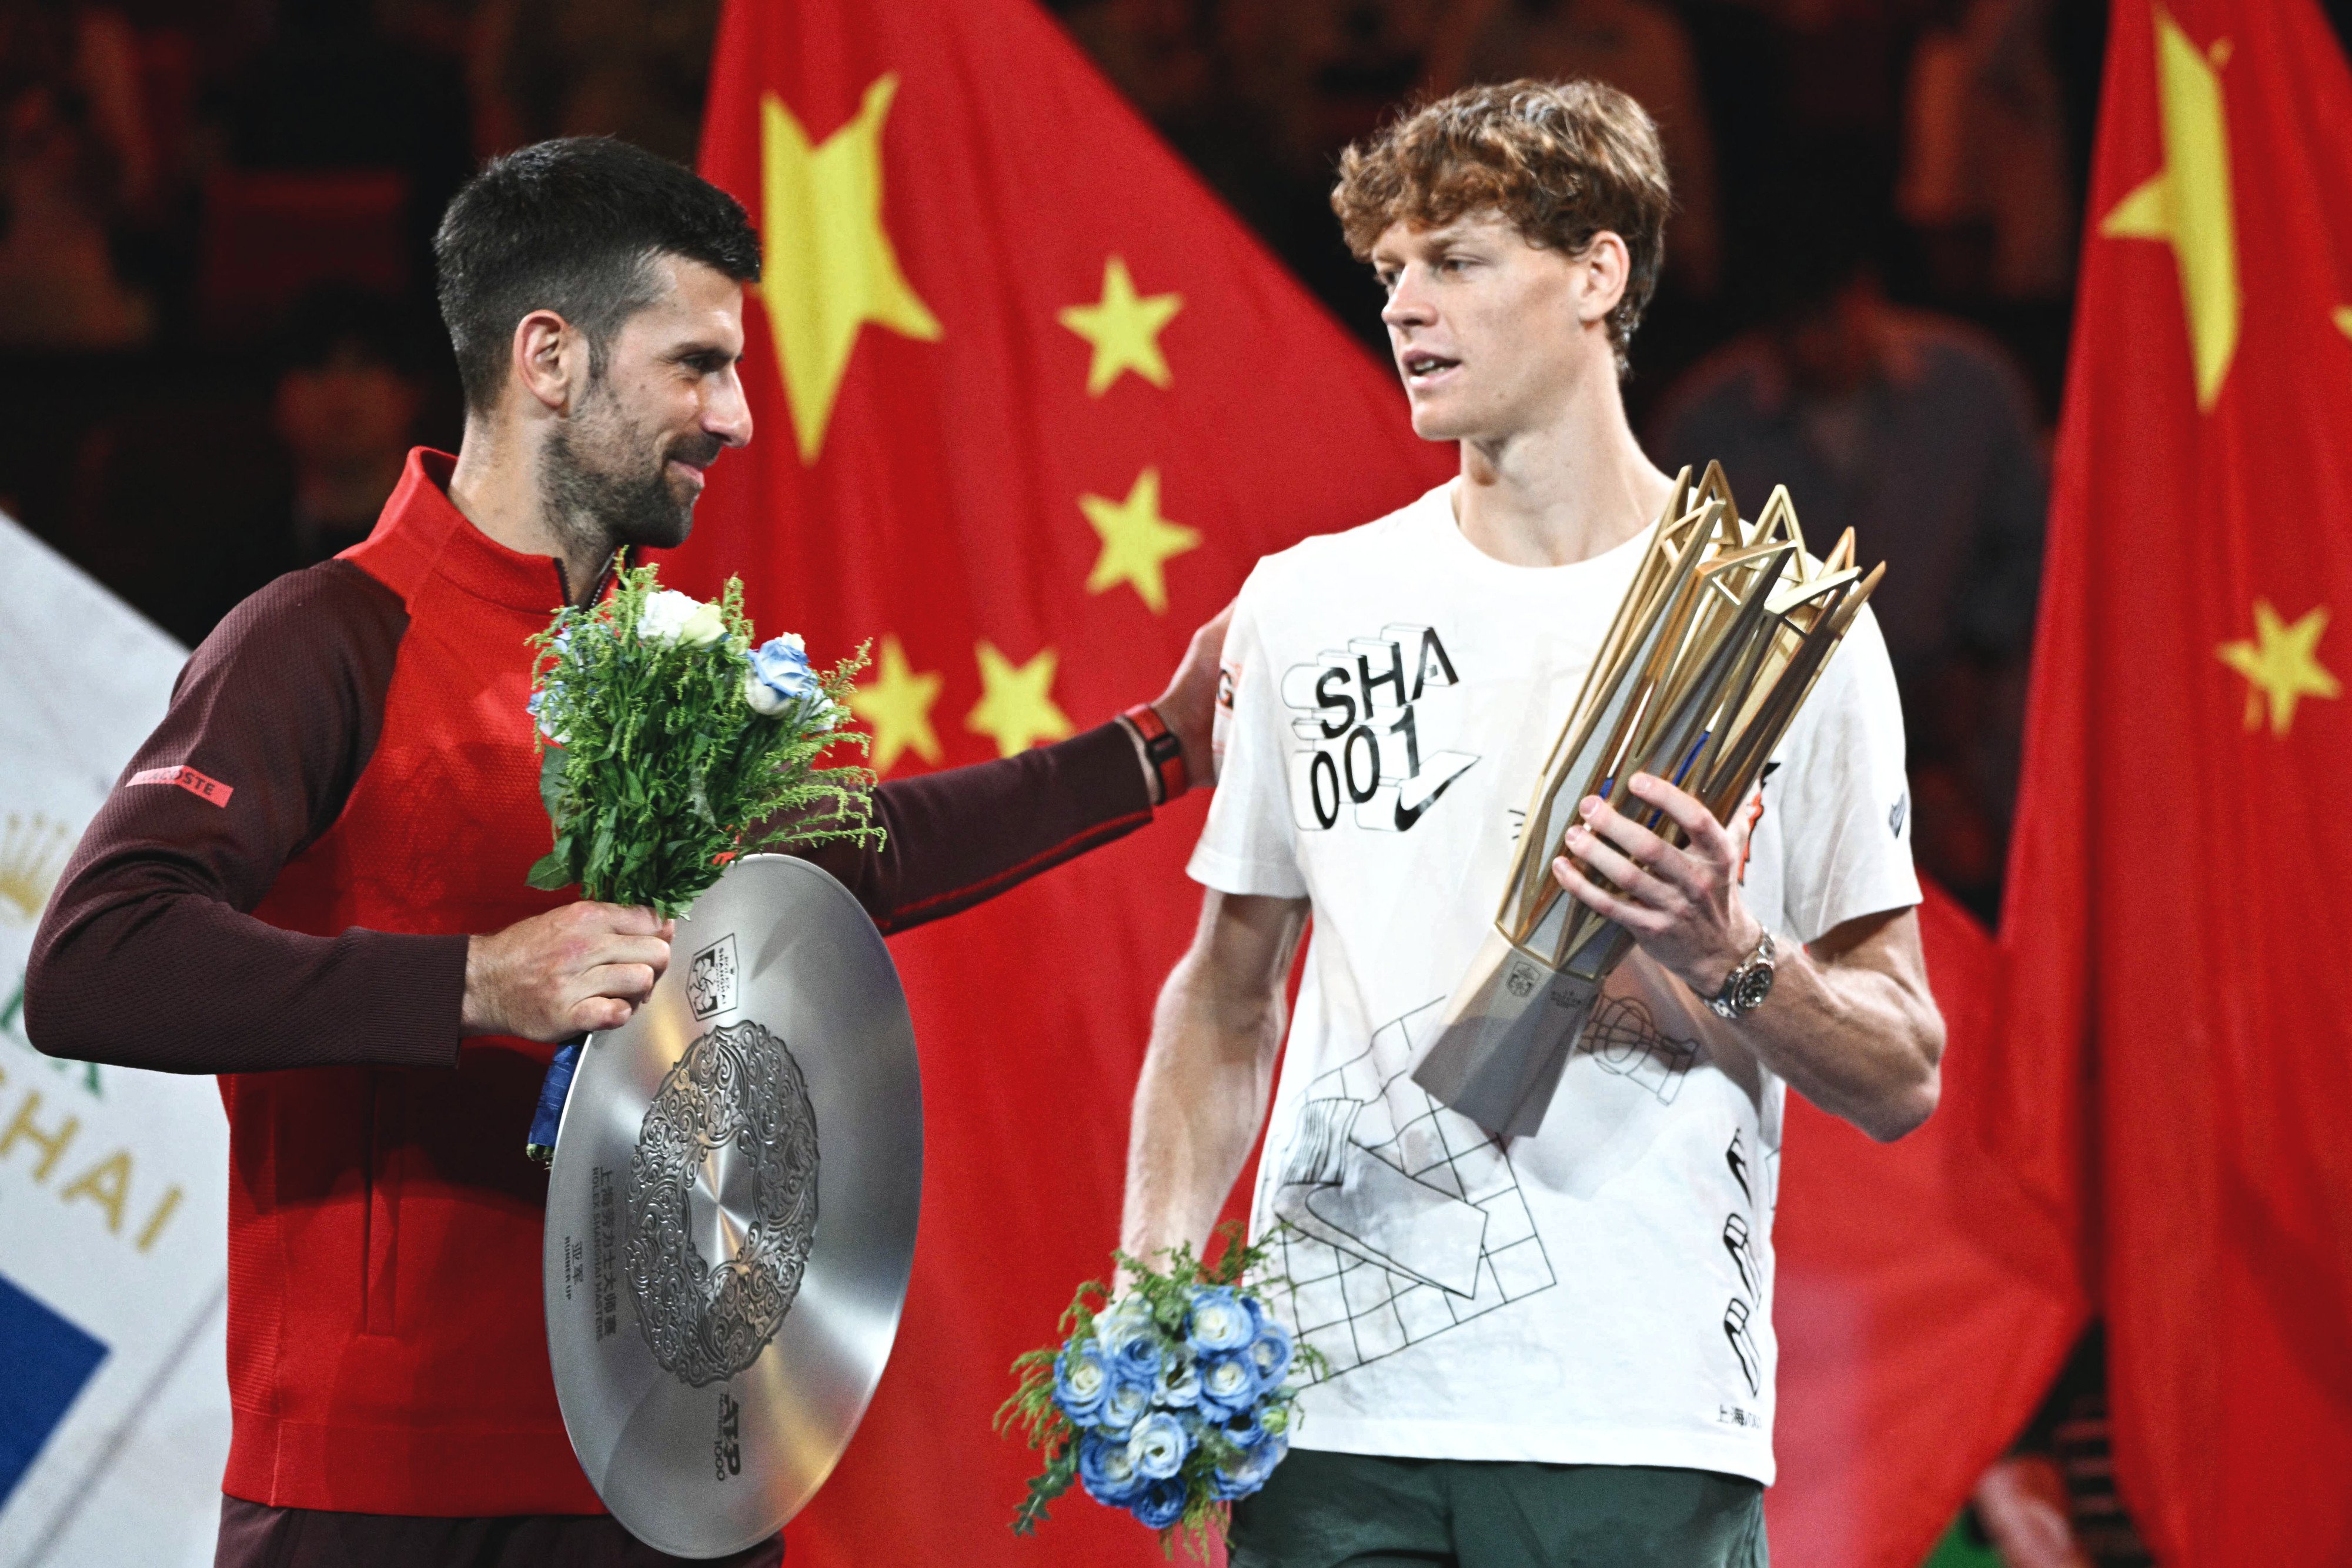
<svg viewBox="0 0 2352 1568">
<path fill-rule="evenodd" d="M 604 603 L 567 607 L 532 638 L 539 793 L 555 848 L 529 885 L 576 883 L 590 899 L 668 918 L 739 855 L 880 841 L 873 772 L 818 765 L 835 744 L 866 746 L 863 735 L 830 727 L 866 650 L 818 676 L 826 704 L 757 713 L 743 697 L 753 629 L 741 579 L 729 577 L 717 600 L 724 636 L 701 645 L 640 636 L 659 591 L 654 567 L 623 570 Z"/>
</svg>

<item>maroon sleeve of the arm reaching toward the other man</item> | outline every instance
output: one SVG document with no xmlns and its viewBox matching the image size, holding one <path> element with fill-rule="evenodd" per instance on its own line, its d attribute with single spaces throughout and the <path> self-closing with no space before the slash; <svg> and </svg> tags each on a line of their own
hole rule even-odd
<svg viewBox="0 0 2352 1568">
<path fill-rule="evenodd" d="M 875 789 L 882 848 L 795 850 L 837 876 L 884 932 L 993 899 L 1152 819 L 1152 786 L 1117 720 L 1054 746 Z"/>
</svg>

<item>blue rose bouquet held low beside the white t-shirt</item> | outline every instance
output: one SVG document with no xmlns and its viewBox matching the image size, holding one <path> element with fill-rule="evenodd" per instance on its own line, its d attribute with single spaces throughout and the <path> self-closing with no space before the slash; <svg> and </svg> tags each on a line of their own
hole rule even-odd
<svg viewBox="0 0 2352 1568">
<path fill-rule="evenodd" d="M 1218 1229 L 1216 1262 L 1192 1248 L 1152 1269 L 1124 1253 L 1134 1285 L 1112 1297 L 1089 1281 L 1061 1318 L 1061 1344 L 1014 1361 L 1021 1380 L 997 1410 L 997 1431 L 1018 1427 L 1044 1450 L 1044 1471 L 1014 1514 L 1028 1535 L 1075 1481 L 1101 1504 L 1160 1530 L 1162 1547 L 1190 1540 L 1207 1556 L 1235 1497 L 1265 1486 L 1296 1420 L 1301 1373 L 1322 1366 L 1312 1347 L 1268 1309 L 1249 1278 L 1265 1250 Z"/>
</svg>

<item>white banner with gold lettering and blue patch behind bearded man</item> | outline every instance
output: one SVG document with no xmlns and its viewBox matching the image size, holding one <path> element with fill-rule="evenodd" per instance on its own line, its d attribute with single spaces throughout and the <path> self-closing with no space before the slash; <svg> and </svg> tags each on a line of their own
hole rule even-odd
<svg viewBox="0 0 2352 1568">
<path fill-rule="evenodd" d="M 0 516 L 0 1568 L 202 1568 L 219 1528 L 219 1090 L 24 1031 L 40 909 L 183 659 Z"/>
</svg>

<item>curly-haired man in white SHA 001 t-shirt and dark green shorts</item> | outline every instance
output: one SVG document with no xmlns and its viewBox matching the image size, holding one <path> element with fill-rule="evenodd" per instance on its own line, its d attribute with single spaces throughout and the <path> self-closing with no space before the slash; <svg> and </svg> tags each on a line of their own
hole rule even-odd
<svg viewBox="0 0 2352 1568">
<path fill-rule="evenodd" d="M 1618 396 L 1670 195 L 1632 99 L 1512 82 L 1350 148 L 1334 207 L 1463 471 L 1242 589 L 1122 1238 L 1207 1238 L 1312 916 L 1251 1234 L 1329 1375 L 1235 1509 L 1237 1568 L 1757 1568 L 1783 1085 L 1875 1137 L 1938 1090 L 1886 647 L 1865 612 L 1733 824 L 1628 782 L 1689 848 L 1585 800 L 1552 873 L 1637 951 L 1534 1137 L 1432 1102 L 1411 1069 L 1672 494 Z"/>
</svg>

